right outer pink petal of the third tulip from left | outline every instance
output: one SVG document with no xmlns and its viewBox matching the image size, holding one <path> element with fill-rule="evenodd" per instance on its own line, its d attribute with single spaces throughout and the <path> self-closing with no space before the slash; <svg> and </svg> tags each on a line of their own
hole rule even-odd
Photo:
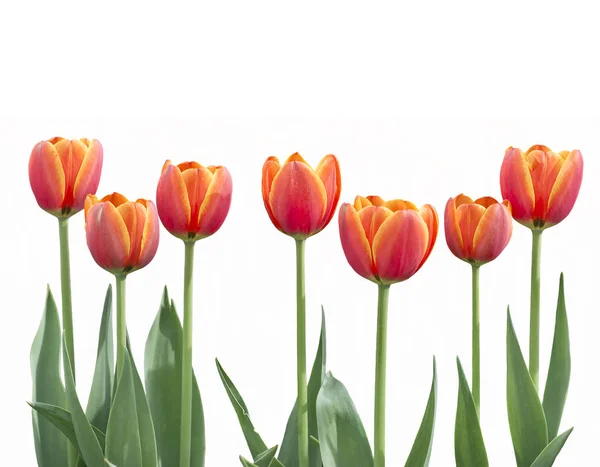
<svg viewBox="0 0 600 467">
<path fill-rule="evenodd" d="M 218 167 L 200 208 L 198 233 L 208 237 L 221 228 L 231 206 L 231 174 L 225 167 Z"/>
</svg>

